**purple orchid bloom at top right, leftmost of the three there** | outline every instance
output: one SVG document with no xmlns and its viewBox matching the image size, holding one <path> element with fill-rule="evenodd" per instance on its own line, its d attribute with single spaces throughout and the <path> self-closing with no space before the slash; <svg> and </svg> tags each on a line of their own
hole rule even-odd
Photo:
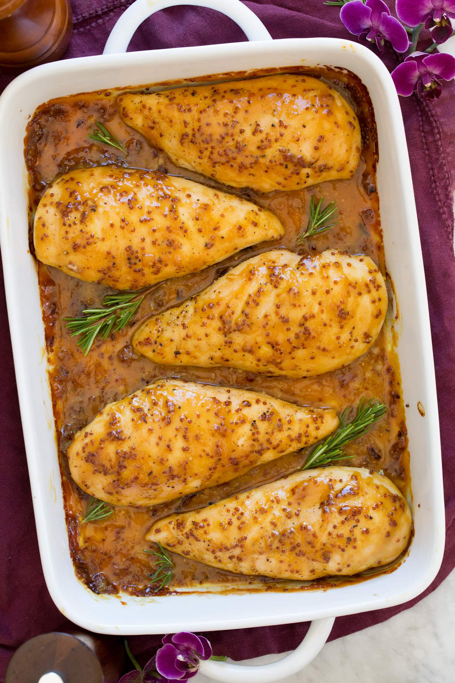
<svg viewBox="0 0 455 683">
<path fill-rule="evenodd" d="M 342 6 L 340 19 L 350 33 L 370 42 L 376 41 L 380 53 L 384 40 L 392 43 L 396 52 L 406 52 L 409 39 L 398 19 L 390 16 L 390 10 L 382 0 L 351 0 Z"/>
</svg>

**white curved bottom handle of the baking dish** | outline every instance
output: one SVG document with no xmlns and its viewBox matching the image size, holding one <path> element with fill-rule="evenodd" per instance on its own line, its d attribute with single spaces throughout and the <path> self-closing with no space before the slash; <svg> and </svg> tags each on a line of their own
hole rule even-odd
<svg viewBox="0 0 455 683">
<path fill-rule="evenodd" d="M 334 617 L 327 617 L 327 619 L 317 619 L 311 622 L 299 647 L 271 664 L 249 667 L 241 664 L 214 662 L 209 659 L 199 664 L 199 671 L 208 678 L 222 683 L 275 683 L 304 669 L 321 652 L 334 621 Z"/>
</svg>

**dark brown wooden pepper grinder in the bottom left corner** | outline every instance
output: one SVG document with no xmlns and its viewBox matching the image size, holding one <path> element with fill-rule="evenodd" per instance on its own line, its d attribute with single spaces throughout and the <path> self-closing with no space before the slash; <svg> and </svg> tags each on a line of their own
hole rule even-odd
<svg viewBox="0 0 455 683">
<path fill-rule="evenodd" d="M 117 683 L 124 666 L 120 638 L 78 630 L 44 633 L 14 652 L 5 683 Z"/>
</svg>

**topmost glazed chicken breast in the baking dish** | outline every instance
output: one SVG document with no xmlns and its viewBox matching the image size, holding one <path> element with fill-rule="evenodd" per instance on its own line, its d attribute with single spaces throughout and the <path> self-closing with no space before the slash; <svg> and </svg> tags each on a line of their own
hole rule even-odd
<svg viewBox="0 0 455 683">
<path fill-rule="evenodd" d="M 331 85 L 276 74 L 117 98 L 123 120 L 171 158 L 233 187 L 296 190 L 352 178 L 362 148 Z"/>
</svg>

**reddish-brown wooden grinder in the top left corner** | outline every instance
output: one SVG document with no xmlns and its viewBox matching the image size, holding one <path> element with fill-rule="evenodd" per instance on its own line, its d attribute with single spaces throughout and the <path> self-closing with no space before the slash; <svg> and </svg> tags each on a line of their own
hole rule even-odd
<svg viewBox="0 0 455 683">
<path fill-rule="evenodd" d="M 59 59 L 72 30 L 68 0 L 0 0 L 0 71 Z"/>
</svg>

